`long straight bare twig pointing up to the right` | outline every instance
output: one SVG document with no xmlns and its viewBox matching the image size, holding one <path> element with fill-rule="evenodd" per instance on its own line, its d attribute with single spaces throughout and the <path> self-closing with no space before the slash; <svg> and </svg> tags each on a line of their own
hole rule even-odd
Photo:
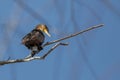
<svg viewBox="0 0 120 80">
<path fill-rule="evenodd" d="M 68 39 L 68 38 L 71 38 L 71 37 L 75 37 L 75 36 L 77 36 L 77 35 L 79 35 L 79 34 L 82 34 L 82 33 L 84 33 L 84 32 L 93 30 L 93 29 L 95 29 L 95 28 L 102 27 L 103 25 L 104 25 L 104 24 L 99 24 L 99 25 L 96 25 L 96 26 L 92 26 L 92 27 L 89 27 L 89 28 L 87 28 L 87 29 L 85 29 L 85 30 L 82 30 L 82 31 L 80 31 L 80 32 L 71 34 L 71 35 L 69 35 L 69 36 L 66 36 L 66 37 L 63 37 L 63 38 L 60 38 L 60 39 L 51 41 L 51 42 L 47 42 L 47 43 L 45 43 L 45 44 L 43 45 L 43 47 L 45 47 L 45 46 L 47 46 L 47 45 L 50 45 L 50 44 L 54 44 L 54 43 L 60 42 L 60 41 L 62 41 L 62 40 L 65 40 L 65 39 Z"/>
</svg>

